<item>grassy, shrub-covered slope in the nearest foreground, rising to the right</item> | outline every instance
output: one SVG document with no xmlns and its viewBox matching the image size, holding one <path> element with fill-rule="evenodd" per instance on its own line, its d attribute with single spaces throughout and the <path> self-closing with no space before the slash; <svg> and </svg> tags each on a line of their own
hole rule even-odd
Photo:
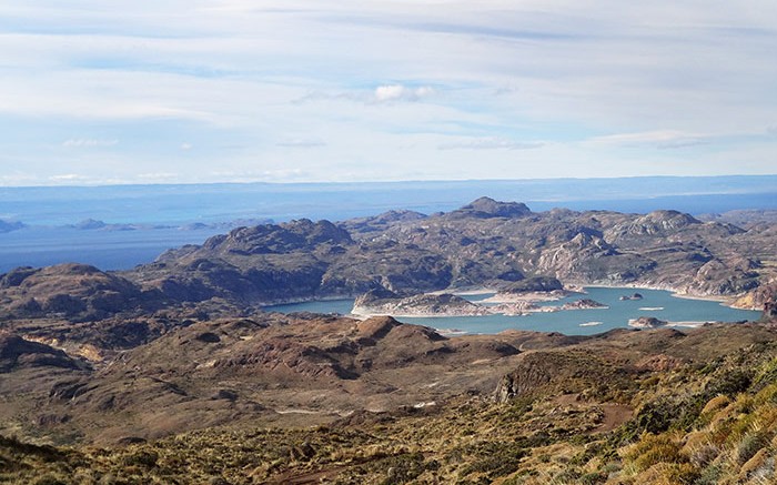
<svg viewBox="0 0 777 485">
<path fill-rule="evenodd" d="M 713 326 L 685 337 L 636 332 L 587 352 L 535 352 L 537 363 L 552 361 L 553 368 L 572 363 L 574 371 L 524 390 L 515 380 L 539 368 L 524 363 L 503 378 L 496 396 L 464 393 L 391 413 L 354 413 L 325 426 L 222 426 L 111 448 L 54 448 L 6 437 L 0 481 L 774 483 L 773 331 L 754 324 Z M 666 353 L 650 353 L 640 362 L 644 372 L 624 374 L 608 364 L 614 355 L 628 361 L 636 355 L 629 345 L 650 341 Z"/>
</svg>

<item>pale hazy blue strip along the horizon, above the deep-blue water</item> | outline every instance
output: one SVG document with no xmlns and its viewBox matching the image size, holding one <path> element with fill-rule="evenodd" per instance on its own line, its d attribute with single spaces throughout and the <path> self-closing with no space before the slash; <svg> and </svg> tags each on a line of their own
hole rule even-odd
<svg viewBox="0 0 777 485">
<path fill-rule="evenodd" d="M 450 211 L 483 195 L 526 202 L 538 211 L 554 206 L 622 212 L 675 209 L 698 214 L 777 209 L 777 175 L 0 188 L 0 219 L 29 225 L 73 224 L 89 218 L 148 224 L 242 218 L 336 221 L 391 209 L 426 214 Z"/>
</svg>

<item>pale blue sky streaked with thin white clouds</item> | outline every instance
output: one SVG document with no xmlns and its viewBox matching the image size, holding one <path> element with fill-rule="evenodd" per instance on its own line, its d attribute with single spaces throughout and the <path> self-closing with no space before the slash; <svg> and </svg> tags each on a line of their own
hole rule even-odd
<svg viewBox="0 0 777 485">
<path fill-rule="evenodd" d="M 0 4 L 0 185 L 777 173 L 777 2 Z"/>
</svg>

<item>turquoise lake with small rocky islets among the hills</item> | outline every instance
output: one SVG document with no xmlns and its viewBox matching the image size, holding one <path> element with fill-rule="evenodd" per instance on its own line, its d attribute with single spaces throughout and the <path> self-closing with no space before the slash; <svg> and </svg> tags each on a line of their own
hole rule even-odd
<svg viewBox="0 0 777 485">
<path fill-rule="evenodd" d="M 444 316 L 444 317 L 401 317 L 406 323 L 431 326 L 455 333 L 494 334 L 508 329 L 539 332 L 561 332 L 567 335 L 592 335 L 612 329 L 627 327 L 630 319 L 655 316 L 670 322 L 741 322 L 757 320 L 760 312 L 735 310 L 718 302 L 689 300 L 673 296 L 668 291 L 633 287 L 586 287 L 586 294 L 573 294 L 543 305 L 561 305 L 588 297 L 603 303 L 608 309 L 569 310 L 553 313 L 532 313 L 523 316 Z M 619 300 L 623 295 L 639 293 L 642 300 Z M 491 295 L 463 295 L 471 301 L 480 301 Z M 333 300 L 268 306 L 265 310 L 281 313 L 313 312 L 349 314 L 353 300 Z M 660 309 L 660 310 L 658 310 Z M 601 322 L 591 324 L 593 322 Z M 581 326 L 583 324 L 583 326 Z M 589 324 L 589 325 L 585 325 Z"/>
</svg>

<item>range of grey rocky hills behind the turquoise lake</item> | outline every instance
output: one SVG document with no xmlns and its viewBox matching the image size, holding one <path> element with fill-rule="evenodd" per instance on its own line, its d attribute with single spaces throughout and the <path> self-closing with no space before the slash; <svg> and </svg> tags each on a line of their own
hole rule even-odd
<svg viewBox="0 0 777 485">
<path fill-rule="evenodd" d="M 169 251 L 122 276 L 165 299 L 240 304 L 356 296 L 374 289 L 498 290 L 535 276 L 735 296 L 775 277 L 776 244 L 768 224 L 744 230 L 676 211 L 534 213 L 524 204 L 482 198 L 431 216 L 391 212 L 336 225 L 300 220 L 241 228 Z"/>
</svg>

